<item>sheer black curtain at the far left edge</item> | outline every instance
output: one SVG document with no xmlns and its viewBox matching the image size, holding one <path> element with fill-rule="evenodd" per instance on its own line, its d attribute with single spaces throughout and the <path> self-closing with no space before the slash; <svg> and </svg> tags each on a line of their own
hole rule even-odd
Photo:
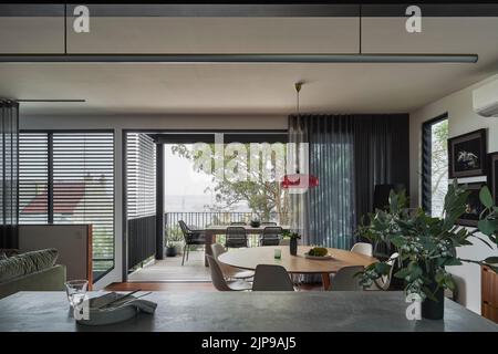
<svg viewBox="0 0 498 354">
<path fill-rule="evenodd" d="M 0 98 L 0 248 L 18 248 L 19 104 Z"/>
</svg>

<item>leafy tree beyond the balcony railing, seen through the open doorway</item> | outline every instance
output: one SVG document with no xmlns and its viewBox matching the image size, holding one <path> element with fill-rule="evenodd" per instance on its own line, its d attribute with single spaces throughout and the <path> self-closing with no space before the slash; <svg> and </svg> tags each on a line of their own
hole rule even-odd
<svg viewBox="0 0 498 354">
<path fill-rule="evenodd" d="M 174 145 L 172 146 L 172 153 L 190 159 L 194 163 L 194 170 L 204 171 L 212 177 L 215 184 L 212 191 L 216 195 L 216 202 L 209 206 L 211 210 L 226 210 L 240 201 L 247 201 L 251 211 L 261 220 L 270 220 L 271 216 L 276 214 L 281 223 L 287 222 L 289 214 L 288 192 L 281 188 L 280 181 L 274 178 L 277 175 L 276 166 L 281 156 L 277 156 L 276 152 L 272 152 L 271 162 L 268 160 L 267 163 L 269 164 L 263 166 L 264 159 L 260 150 L 250 148 L 250 144 L 243 144 L 243 146 L 248 153 L 247 158 L 237 160 L 237 169 L 247 171 L 246 180 L 230 180 L 229 178 L 218 178 L 216 176 L 216 160 L 222 162 L 224 166 L 227 166 L 238 156 L 237 152 L 224 154 L 224 156 L 212 154 L 210 159 L 211 166 L 209 166 L 211 168 L 207 169 L 205 169 L 206 166 L 200 164 L 200 153 L 196 152 L 191 145 Z M 211 152 L 215 152 L 214 145 L 209 145 L 209 147 Z M 251 166 L 251 164 L 258 165 Z M 264 168 L 267 168 L 267 171 L 270 171 L 272 178 L 264 178 Z"/>
</svg>

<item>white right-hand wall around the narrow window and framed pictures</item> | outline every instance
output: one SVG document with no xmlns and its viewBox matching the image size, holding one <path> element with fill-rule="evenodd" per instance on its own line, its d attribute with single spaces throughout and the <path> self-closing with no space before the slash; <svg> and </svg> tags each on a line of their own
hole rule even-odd
<svg viewBox="0 0 498 354">
<path fill-rule="evenodd" d="M 411 196 L 413 206 L 421 205 L 421 170 L 422 170 L 422 124 L 445 112 L 448 113 L 449 136 L 457 136 L 479 128 L 488 128 L 488 153 L 498 152 L 498 118 L 485 118 L 473 111 L 473 91 L 498 75 L 455 92 L 429 105 L 411 113 Z M 470 181 L 470 180 L 468 180 Z M 481 242 L 464 247 L 458 256 L 468 259 L 484 259 L 496 250 L 490 250 Z M 468 309 L 480 313 L 480 269 L 476 264 L 464 264 L 449 269 L 459 284 L 458 302 Z"/>
</svg>

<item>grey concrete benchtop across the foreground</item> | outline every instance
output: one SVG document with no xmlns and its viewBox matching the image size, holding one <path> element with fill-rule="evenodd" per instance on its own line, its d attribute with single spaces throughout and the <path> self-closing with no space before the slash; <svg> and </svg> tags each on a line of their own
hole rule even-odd
<svg viewBox="0 0 498 354">
<path fill-rule="evenodd" d="M 498 331 L 446 299 L 445 319 L 408 321 L 402 292 L 154 292 L 154 315 L 101 327 L 77 325 L 64 292 L 0 300 L 0 331 Z"/>
</svg>

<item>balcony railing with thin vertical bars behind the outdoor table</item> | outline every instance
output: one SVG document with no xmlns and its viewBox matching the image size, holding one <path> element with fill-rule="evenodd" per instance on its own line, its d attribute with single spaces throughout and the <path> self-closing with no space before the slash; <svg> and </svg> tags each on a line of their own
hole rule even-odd
<svg viewBox="0 0 498 354">
<path fill-rule="evenodd" d="M 165 241 L 183 240 L 181 229 L 178 225 L 179 220 L 184 220 L 190 229 L 201 230 L 215 225 L 230 225 L 230 222 L 246 222 L 251 220 L 273 221 L 280 225 L 289 222 L 287 214 L 270 214 L 268 219 L 261 218 L 256 212 L 225 212 L 225 211 L 200 211 L 200 212 L 166 212 L 165 214 Z M 249 246 L 258 246 L 259 236 L 248 235 Z M 218 242 L 225 241 L 225 236 L 217 237 Z M 166 244 L 165 242 L 165 244 Z"/>
</svg>

